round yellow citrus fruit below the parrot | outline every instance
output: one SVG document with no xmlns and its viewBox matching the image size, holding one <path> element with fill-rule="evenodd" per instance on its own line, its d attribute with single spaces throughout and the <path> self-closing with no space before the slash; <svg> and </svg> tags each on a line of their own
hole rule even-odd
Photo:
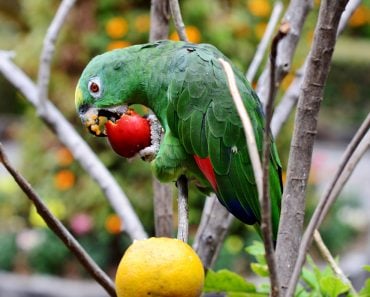
<svg viewBox="0 0 370 297">
<path fill-rule="evenodd" d="M 199 297 L 203 284 L 198 255 L 181 240 L 166 237 L 135 241 L 116 274 L 118 297 Z"/>
</svg>

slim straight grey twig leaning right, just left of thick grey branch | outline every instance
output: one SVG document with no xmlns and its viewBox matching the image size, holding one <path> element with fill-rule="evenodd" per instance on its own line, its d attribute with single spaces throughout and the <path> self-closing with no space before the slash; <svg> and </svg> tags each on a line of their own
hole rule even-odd
<svg viewBox="0 0 370 297">
<path fill-rule="evenodd" d="M 271 12 L 271 16 L 270 16 L 269 22 L 268 22 L 267 27 L 266 27 L 266 31 L 263 34 L 263 37 L 262 37 L 260 43 L 257 46 L 256 52 L 254 54 L 252 62 L 249 65 L 249 68 L 248 68 L 248 71 L 247 71 L 246 77 L 247 77 L 247 80 L 250 81 L 250 82 L 253 81 L 253 79 L 254 79 L 254 77 L 257 73 L 258 67 L 260 66 L 260 64 L 262 62 L 262 59 L 263 59 L 263 57 L 265 55 L 265 52 L 267 50 L 269 41 L 270 41 L 272 35 L 274 34 L 276 24 L 279 21 L 280 14 L 283 11 L 283 7 L 284 6 L 283 6 L 283 3 L 281 1 L 276 1 L 275 4 L 274 4 L 274 8 Z"/>
</svg>

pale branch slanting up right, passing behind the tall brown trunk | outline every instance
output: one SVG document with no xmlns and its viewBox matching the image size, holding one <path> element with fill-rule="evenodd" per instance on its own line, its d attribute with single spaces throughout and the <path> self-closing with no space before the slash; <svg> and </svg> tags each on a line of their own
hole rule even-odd
<svg viewBox="0 0 370 297">
<path fill-rule="evenodd" d="M 352 16 L 353 12 L 360 5 L 361 0 L 350 0 L 344 10 L 337 31 L 337 38 L 343 32 L 349 18 Z M 305 72 L 305 67 L 307 64 L 307 59 L 303 66 L 296 72 L 295 78 L 292 84 L 289 86 L 288 90 L 281 99 L 279 105 L 276 107 L 274 116 L 271 122 L 271 132 L 274 137 L 276 137 L 283 124 L 287 121 L 293 107 L 298 101 L 298 97 L 301 91 L 301 85 L 303 80 L 303 73 Z"/>
</svg>

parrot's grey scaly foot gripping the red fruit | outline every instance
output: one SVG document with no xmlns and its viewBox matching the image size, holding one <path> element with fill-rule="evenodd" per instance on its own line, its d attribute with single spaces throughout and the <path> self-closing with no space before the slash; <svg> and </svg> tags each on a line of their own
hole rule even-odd
<svg viewBox="0 0 370 297">
<path fill-rule="evenodd" d="M 154 114 L 149 115 L 147 119 L 150 124 L 151 145 L 140 150 L 138 154 L 144 161 L 150 162 L 155 159 L 159 152 L 164 130 Z"/>
</svg>

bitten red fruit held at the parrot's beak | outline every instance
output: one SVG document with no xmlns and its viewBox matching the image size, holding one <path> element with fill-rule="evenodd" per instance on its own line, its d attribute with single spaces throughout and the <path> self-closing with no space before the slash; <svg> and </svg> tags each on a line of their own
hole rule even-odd
<svg viewBox="0 0 370 297">
<path fill-rule="evenodd" d="M 115 123 L 108 121 L 105 128 L 113 150 L 122 157 L 131 158 L 151 144 L 148 120 L 133 110 L 128 110 Z"/>
</svg>

